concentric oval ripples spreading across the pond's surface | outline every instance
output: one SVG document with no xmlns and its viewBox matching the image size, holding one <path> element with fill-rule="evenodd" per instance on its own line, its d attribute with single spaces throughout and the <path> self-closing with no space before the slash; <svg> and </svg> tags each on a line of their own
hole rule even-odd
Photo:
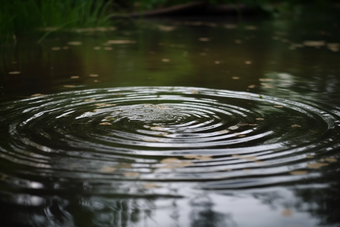
<svg viewBox="0 0 340 227">
<path fill-rule="evenodd" d="M 294 184 L 336 162 L 340 145 L 330 106 L 229 90 L 89 89 L 0 111 L 1 193 L 176 197 Z"/>
</svg>

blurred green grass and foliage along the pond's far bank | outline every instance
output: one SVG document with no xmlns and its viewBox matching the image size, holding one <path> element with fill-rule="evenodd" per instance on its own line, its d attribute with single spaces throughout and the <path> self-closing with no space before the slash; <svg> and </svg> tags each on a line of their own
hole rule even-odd
<svg viewBox="0 0 340 227">
<path fill-rule="evenodd" d="M 0 38 L 52 32 L 60 28 L 110 26 L 117 14 L 143 12 L 190 2 L 246 5 L 273 17 L 299 13 L 305 5 L 335 5 L 334 0 L 0 0 Z M 46 28 L 51 28 L 50 30 Z"/>
</svg>

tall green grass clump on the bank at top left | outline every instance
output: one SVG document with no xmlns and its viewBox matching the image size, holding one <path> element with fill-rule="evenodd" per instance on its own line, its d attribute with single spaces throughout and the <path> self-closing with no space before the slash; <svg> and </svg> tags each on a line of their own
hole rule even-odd
<svg viewBox="0 0 340 227">
<path fill-rule="evenodd" d="M 27 36 L 43 28 L 109 26 L 114 0 L 2 1 L 0 36 Z"/>
</svg>

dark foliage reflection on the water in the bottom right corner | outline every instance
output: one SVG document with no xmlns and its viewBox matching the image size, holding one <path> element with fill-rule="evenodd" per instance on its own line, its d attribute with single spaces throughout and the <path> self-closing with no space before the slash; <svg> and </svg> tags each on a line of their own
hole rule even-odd
<svg viewBox="0 0 340 227">
<path fill-rule="evenodd" d="M 324 167 L 319 176 L 306 176 L 295 187 L 271 192 L 256 192 L 253 196 L 272 209 L 309 213 L 320 226 L 340 226 L 340 181 L 339 162 Z M 282 215 L 285 215 L 282 213 Z"/>
</svg>

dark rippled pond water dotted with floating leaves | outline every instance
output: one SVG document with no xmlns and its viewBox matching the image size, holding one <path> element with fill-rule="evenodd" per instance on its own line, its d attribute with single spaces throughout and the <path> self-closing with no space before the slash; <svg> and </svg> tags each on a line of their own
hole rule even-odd
<svg viewBox="0 0 340 227">
<path fill-rule="evenodd" d="M 337 20 L 1 47 L 1 226 L 340 226 Z"/>
</svg>

